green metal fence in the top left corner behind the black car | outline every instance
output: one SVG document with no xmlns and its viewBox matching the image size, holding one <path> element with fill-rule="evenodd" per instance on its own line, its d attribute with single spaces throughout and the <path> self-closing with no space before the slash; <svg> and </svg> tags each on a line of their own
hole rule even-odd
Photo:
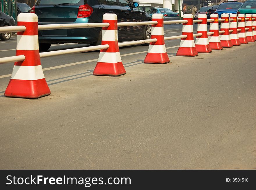
<svg viewBox="0 0 256 190">
<path fill-rule="evenodd" d="M 0 0 L 0 10 L 12 16 L 17 23 L 17 0 Z"/>
</svg>

